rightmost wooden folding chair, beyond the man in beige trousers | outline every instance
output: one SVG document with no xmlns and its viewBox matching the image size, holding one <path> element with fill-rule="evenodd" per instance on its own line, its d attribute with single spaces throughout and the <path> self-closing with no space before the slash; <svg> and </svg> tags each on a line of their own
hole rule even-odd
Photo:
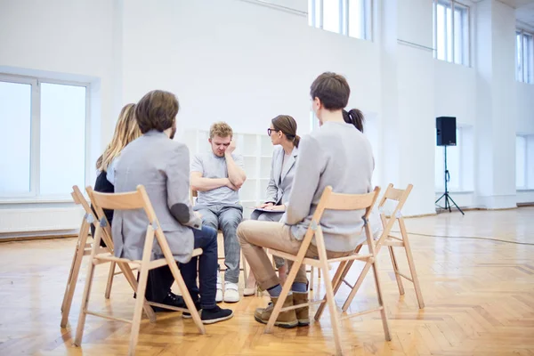
<svg viewBox="0 0 534 356">
<path fill-rule="evenodd" d="M 419 308 L 424 309 L 425 302 L 423 301 L 421 287 L 419 286 L 419 279 L 417 278 L 416 264 L 414 263 L 414 258 L 411 252 L 411 247 L 409 245 L 408 232 L 406 231 L 406 225 L 404 224 L 404 218 L 402 217 L 402 213 L 401 213 L 401 209 L 406 203 L 406 200 L 408 199 L 409 193 L 411 192 L 412 188 L 413 188 L 412 184 L 409 184 L 406 190 L 395 189 L 393 188 L 393 184 L 389 184 L 387 186 L 387 190 L 385 190 L 384 197 L 382 197 L 382 199 L 380 200 L 380 204 L 378 204 L 378 211 L 380 212 L 380 220 L 382 221 L 382 226 L 384 230 L 382 231 L 380 238 L 377 241 L 375 241 L 375 244 L 376 244 L 375 249 L 376 249 L 376 254 L 377 254 L 380 251 L 380 248 L 382 246 L 386 246 L 388 248 L 390 257 L 392 259 L 393 271 L 395 272 L 395 279 L 397 279 L 397 285 L 399 287 L 399 293 L 401 295 L 404 295 L 404 286 L 402 285 L 401 277 L 408 279 L 410 282 L 414 284 L 414 288 L 416 290 L 416 296 L 417 296 L 417 303 L 419 304 Z M 397 202 L 397 205 L 395 206 L 395 209 L 390 215 L 389 220 L 386 218 L 384 214 L 384 205 L 387 202 L 387 200 L 392 200 L 392 201 Z M 395 222 L 399 223 L 399 228 L 401 230 L 400 238 L 390 235 L 392 226 Z M 406 252 L 406 257 L 408 259 L 410 277 L 402 273 L 401 271 L 399 271 L 399 264 L 397 263 L 397 257 L 395 256 L 393 247 L 404 247 L 404 251 Z M 356 284 L 354 286 L 351 286 L 348 282 L 346 282 L 346 280 L 344 280 L 345 284 L 352 287 L 351 294 L 347 297 L 347 300 L 344 303 L 344 307 L 343 307 L 344 311 L 346 311 L 349 305 L 352 303 L 352 299 L 354 298 L 354 295 L 356 295 L 356 292 L 360 288 L 362 281 L 363 279 L 361 280 L 358 279 L 356 281 Z"/>
</svg>

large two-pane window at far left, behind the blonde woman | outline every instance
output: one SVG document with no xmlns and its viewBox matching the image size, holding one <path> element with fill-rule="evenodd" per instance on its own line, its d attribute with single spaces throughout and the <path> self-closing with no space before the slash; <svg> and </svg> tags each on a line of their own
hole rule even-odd
<svg viewBox="0 0 534 356">
<path fill-rule="evenodd" d="M 85 186 L 87 86 L 0 75 L 0 198 Z"/>
</svg>

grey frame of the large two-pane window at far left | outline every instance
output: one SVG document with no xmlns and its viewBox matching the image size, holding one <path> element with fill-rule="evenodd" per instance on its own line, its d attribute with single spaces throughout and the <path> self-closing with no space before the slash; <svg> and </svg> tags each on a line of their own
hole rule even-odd
<svg viewBox="0 0 534 356">
<path fill-rule="evenodd" d="M 32 77 L 0 72 L 0 82 L 31 85 L 31 120 L 29 150 L 29 191 L 20 193 L 0 193 L 0 204 L 40 201 L 70 200 L 70 192 L 61 195 L 41 195 L 41 84 L 72 85 L 85 87 L 85 145 L 84 145 L 84 184 L 91 179 L 91 83 L 57 79 L 53 77 Z"/>
</svg>

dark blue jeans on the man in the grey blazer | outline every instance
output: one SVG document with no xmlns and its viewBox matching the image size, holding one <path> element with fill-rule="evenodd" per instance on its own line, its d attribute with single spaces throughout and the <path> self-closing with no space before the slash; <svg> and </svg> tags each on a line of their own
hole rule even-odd
<svg viewBox="0 0 534 356">
<path fill-rule="evenodd" d="M 202 230 L 192 230 L 195 248 L 202 248 L 203 253 L 192 257 L 189 263 L 180 263 L 180 271 L 193 302 L 198 301 L 198 295 L 200 295 L 200 307 L 211 309 L 216 305 L 217 231 L 209 226 L 202 226 Z M 200 289 L 197 285 L 197 265 Z"/>
</svg>

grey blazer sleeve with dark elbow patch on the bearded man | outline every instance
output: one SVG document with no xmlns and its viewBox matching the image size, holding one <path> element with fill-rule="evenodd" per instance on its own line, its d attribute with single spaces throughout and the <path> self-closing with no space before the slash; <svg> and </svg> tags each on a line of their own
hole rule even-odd
<svg viewBox="0 0 534 356">
<path fill-rule="evenodd" d="M 167 206 L 182 225 L 202 229 L 202 220 L 190 205 L 190 153 L 187 146 L 176 146 L 166 166 Z"/>
</svg>

